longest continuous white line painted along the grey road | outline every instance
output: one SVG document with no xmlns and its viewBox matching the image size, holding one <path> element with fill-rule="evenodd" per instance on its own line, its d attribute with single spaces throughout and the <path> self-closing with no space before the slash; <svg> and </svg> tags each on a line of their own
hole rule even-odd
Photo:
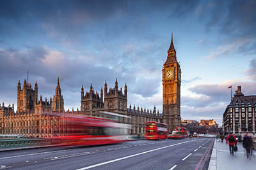
<svg viewBox="0 0 256 170">
<path fill-rule="evenodd" d="M 194 141 L 194 140 L 191 140 L 191 141 Z M 128 158 L 131 158 L 131 157 L 136 157 L 138 155 L 142 155 L 142 154 L 149 153 L 149 152 L 154 152 L 156 150 L 161 150 L 161 149 L 169 148 L 169 147 L 176 146 L 176 145 L 181 145 L 183 143 L 188 143 L 188 142 L 191 142 L 191 141 L 185 141 L 185 142 L 182 142 L 182 143 L 176 143 L 176 144 L 173 144 L 173 145 L 168 145 L 168 146 L 164 146 L 164 147 L 161 147 L 161 148 L 156 148 L 154 150 L 148 150 L 146 152 L 136 153 L 134 155 L 129 155 L 127 157 L 122 157 L 122 158 L 118 158 L 118 159 L 109 160 L 109 161 L 102 162 L 102 163 L 99 163 L 99 164 L 95 164 L 95 165 L 92 165 L 92 166 L 82 167 L 82 168 L 77 169 L 77 170 L 85 170 L 85 169 L 90 169 L 90 168 L 97 167 L 97 166 L 102 166 L 102 165 L 109 164 L 109 163 L 112 163 L 112 162 L 116 162 L 116 161 L 119 161 L 119 160 L 124 160 L 124 159 L 128 159 Z"/>
</svg>

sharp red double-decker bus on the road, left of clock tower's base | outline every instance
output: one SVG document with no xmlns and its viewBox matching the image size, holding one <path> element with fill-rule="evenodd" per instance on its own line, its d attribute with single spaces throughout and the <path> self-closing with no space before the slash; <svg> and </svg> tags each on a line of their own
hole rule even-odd
<svg viewBox="0 0 256 170">
<path fill-rule="evenodd" d="M 145 138 L 146 139 L 166 139 L 167 125 L 159 122 L 146 122 Z"/>
</svg>

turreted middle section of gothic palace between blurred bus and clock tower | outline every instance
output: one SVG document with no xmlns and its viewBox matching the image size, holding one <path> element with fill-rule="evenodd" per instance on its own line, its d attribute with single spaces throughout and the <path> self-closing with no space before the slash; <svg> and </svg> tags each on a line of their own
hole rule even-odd
<svg viewBox="0 0 256 170">
<path fill-rule="evenodd" d="M 118 89 L 118 82 L 115 81 L 115 87 L 109 88 L 107 82 L 105 81 L 104 92 L 100 89 L 100 94 L 93 90 L 92 84 L 90 86 L 90 91 L 84 94 L 84 88 L 81 88 L 81 114 L 98 116 L 97 113 L 100 111 L 108 111 L 112 113 L 122 114 L 131 119 L 125 119 L 124 123 L 131 124 L 132 129 L 130 134 L 142 134 L 144 132 L 144 124 L 148 121 L 159 122 L 162 120 L 159 111 L 156 114 L 156 107 L 154 111 L 146 111 L 142 108 L 136 110 L 135 106 L 132 110 L 131 104 L 130 108 L 127 108 L 127 85 L 125 83 L 124 92 L 122 87 Z"/>
</svg>

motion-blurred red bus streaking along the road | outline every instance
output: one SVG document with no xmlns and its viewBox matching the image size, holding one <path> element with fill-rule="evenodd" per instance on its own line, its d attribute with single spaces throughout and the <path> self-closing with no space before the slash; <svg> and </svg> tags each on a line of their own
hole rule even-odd
<svg viewBox="0 0 256 170">
<path fill-rule="evenodd" d="M 118 122 L 129 118 L 115 113 L 105 113 L 109 117 L 88 117 L 65 115 L 66 136 L 53 137 L 52 143 L 61 145 L 105 145 L 127 141 L 131 125 Z"/>
</svg>

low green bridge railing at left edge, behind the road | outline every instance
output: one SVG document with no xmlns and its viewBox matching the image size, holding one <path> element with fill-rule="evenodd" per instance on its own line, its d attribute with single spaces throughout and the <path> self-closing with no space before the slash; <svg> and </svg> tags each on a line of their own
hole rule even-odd
<svg viewBox="0 0 256 170">
<path fill-rule="evenodd" d="M 51 145 L 51 144 L 52 144 L 51 138 L 49 139 L 42 139 L 42 138 L 0 139 L 0 148 Z"/>
</svg>

